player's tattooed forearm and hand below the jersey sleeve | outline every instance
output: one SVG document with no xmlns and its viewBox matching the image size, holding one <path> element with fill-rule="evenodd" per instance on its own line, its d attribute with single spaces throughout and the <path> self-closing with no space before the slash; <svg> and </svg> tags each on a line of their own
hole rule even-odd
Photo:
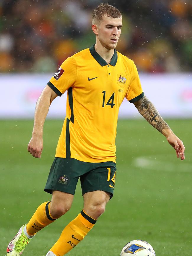
<svg viewBox="0 0 192 256">
<path fill-rule="evenodd" d="M 175 149 L 177 158 L 180 157 L 181 160 L 184 160 L 185 147 L 183 142 L 173 133 L 168 124 L 162 119 L 153 103 L 144 95 L 139 101 L 134 102 L 134 105 L 141 116 L 167 138 L 169 144 Z"/>
</svg>

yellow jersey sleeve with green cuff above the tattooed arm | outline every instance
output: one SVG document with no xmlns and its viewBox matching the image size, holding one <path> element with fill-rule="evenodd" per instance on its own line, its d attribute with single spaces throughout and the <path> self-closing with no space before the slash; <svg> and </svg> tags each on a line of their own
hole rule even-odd
<svg viewBox="0 0 192 256">
<path fill-rule="evenodd" d="M 130 103 L 134 103 L 134 102 L 138 101 L 140 98 L 142 98 L 143 96 L 144 96 L 144 92 L 141 88 L 139 74 L 138 74 L 137 68 L 133 62 L 131 80 L 130 80 L 128 90 L 127 90 L 125 97 Z"/>
</svg>

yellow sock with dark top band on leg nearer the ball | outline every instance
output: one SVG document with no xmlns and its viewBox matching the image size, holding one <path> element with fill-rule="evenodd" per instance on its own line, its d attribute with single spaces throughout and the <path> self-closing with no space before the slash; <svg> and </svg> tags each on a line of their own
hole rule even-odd
<svg viewBox="0 0 192 256">
<path fill-rule="evenodd" d="M 81 242 L 92 229 L 97 220 L 88 216 L 83 210 L 62 231 L 58 241 L 50 249 L 57 256 L 63 256 Z"/>
</svg>

